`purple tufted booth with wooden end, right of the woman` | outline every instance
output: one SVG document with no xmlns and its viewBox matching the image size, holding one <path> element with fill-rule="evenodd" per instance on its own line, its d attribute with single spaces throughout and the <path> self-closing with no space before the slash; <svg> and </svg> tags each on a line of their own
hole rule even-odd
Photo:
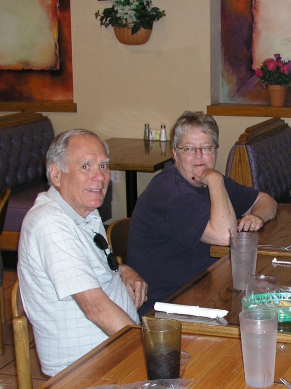
<svg viewBox="0 0 291 389">
<path fill-rule="evenodd" d="M 291 128 L 273 118 L 246 128 L 230 150 L 226 176 L 291 202 Z"/>
</svg>

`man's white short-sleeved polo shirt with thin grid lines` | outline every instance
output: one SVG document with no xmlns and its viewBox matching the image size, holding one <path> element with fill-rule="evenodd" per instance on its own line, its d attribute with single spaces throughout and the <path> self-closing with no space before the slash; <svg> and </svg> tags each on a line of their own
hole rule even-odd
<svg viewBox="0 0 291 389">
<path fill-rule="evenodd" d="M 81 217 L 53 187 L 38 195 L 23 220 L 20 292 L 42 370 L 50 376 L 108 338 L 85 317 L 73 294 L 101 287 L 139 323 L 119 272 L 110 270 L 106 255 L 93 241 L 95 232 L 106 238 L 98 211 Z"/>
</svg>

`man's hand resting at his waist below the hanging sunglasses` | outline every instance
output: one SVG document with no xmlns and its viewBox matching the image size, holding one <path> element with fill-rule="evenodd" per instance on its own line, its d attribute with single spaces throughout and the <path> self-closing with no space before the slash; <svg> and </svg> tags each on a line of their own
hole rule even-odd
<svg viewBox="0 0 291 389">
<path fill-rule="evenodd" d="M 140 308 L 147 300 L 147 283 L 128 265 L 120 265 L 119 272 L 136 309 Z"/>
</svg>

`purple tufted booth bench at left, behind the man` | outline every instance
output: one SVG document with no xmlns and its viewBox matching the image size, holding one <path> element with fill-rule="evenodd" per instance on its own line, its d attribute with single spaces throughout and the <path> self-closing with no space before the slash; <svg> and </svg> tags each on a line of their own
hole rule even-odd
<svg viewBox="0 0 291 389">
<path fill-rule="evenodd" d="M 0 189 L 10 188 L 4 229 L 0 236 L 2 250 L 17 250 L 22 220 L 38 193 L 49 188 L 46 155 L 54 131 L 47 116 L 20 112 L 0 116 Z M 99 208 L 103 222 L 110 219 L 112 184 Z"/>
</svg>

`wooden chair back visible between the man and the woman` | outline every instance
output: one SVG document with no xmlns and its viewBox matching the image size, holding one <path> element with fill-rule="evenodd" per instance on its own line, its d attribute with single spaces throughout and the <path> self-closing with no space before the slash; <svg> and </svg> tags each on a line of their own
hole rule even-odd
<svg viewBox="0 0 291 389">
<path fill-rule="evenodd" d="M 127 245 L 130 220 L 130 217 L 118 219 L 111 223 L 106 231 L 109 246 L 117 258 L 121 258 L 123 264 L 127 263 Z"/>
</svg>

